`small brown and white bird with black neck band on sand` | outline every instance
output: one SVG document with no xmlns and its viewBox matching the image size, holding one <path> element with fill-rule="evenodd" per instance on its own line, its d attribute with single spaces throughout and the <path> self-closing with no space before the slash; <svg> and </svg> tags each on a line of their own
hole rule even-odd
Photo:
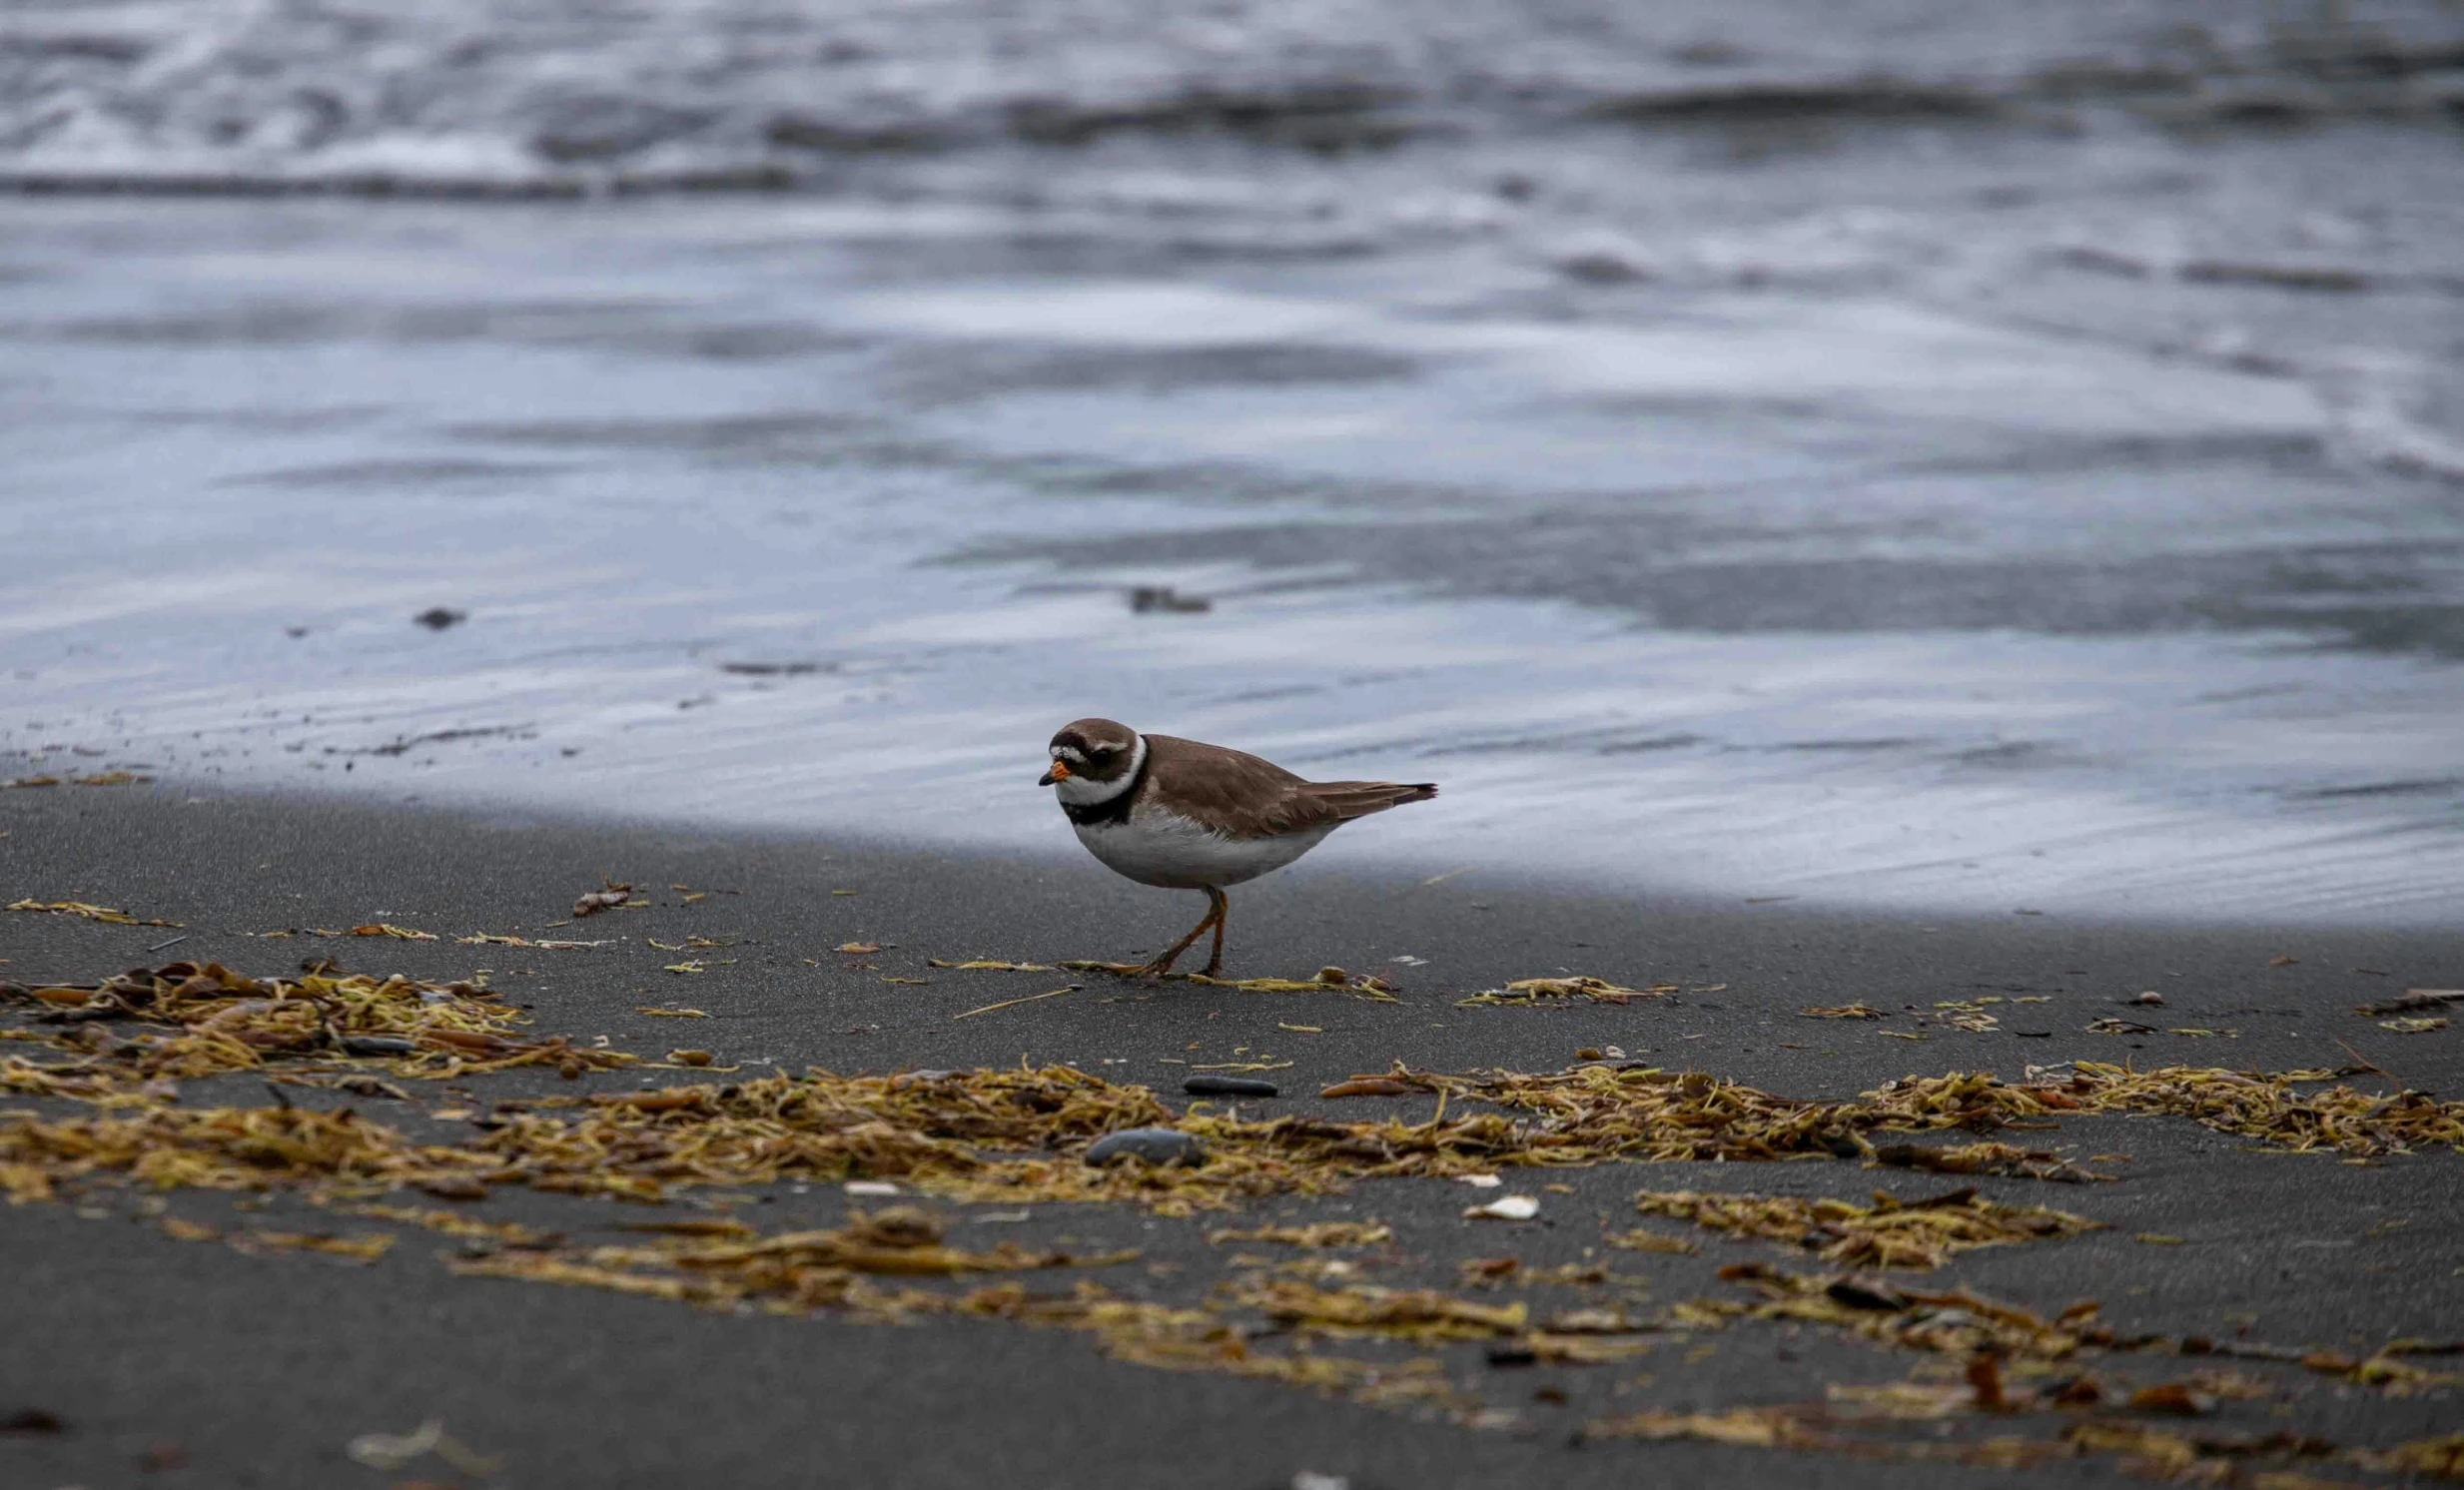
<svg viewBox="0 0 2464 1490">
<path fill-rule="evenodd" d="M 1205 919 L 1151 963 L 1099 963 L 1146 978 L 1170 973 L 1210 926 L 1205 978 L 1215 978 L 1227 884 L 1281 869 L 1353 818 L 1437 795 L 1434 781 L 1303 781 L 1244 751 L 1138 734 L 1114 719 L 1062 724 L 1050 756 L 1037 786 L 1055 788 L 1089 855 L 1138 884 L 1207 892 Z"/>
</svg>

